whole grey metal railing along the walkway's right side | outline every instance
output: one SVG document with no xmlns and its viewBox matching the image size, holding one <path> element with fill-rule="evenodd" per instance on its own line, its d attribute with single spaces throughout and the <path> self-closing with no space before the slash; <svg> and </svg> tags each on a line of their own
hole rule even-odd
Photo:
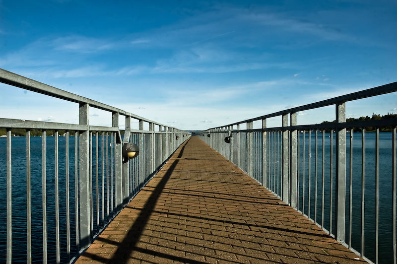
<svg viewBox="0 0 397 264">
<path fill-rule="evenodd" d="M 396 91 L 397 82 L 198 135 L 357 255 L 396 264 L 397 119 L 346 122 L 345 111 L 346 102 Z M 326 106 L 334 106 L 334 123 L 297 125 L 298 112 Z M 280 126 L 267 128 L 274 117 Z M 380 133 L 385 127 L 391 132 Z"/>
</svg>

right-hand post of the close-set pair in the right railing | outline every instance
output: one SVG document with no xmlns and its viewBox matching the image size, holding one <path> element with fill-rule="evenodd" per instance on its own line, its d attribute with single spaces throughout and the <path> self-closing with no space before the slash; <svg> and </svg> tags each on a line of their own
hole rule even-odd
<svg viewBox="0 0 397 264">
<path fill-rule="evenodd" d="M 290 123 L 291 126 L 296 126 L 296 112 L 291 113 L 290 116 Z M 291 139 L 290 139 L 290 205 L 292 208 L 297 208 L 297 194 L 298 194 L 298 183 L 297 183 L 297 178 L 298 178 L 298 163 L 297 163 L 297 157 L 298 157 L 298 138 L 297 138 L 297 133 L 298 131 L 296 129 L 291 130 Z"/>
</svg>

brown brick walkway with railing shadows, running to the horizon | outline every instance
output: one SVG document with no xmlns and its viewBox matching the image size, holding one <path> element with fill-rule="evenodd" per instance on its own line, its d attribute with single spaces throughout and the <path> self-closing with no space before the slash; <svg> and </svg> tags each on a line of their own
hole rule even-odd
<svg viewBox="0 0 397 264">
<path fill-rule="evenodd" d="M 355 258 L 194 136 L 76 263 L 366 263 Z"/>
</svg>

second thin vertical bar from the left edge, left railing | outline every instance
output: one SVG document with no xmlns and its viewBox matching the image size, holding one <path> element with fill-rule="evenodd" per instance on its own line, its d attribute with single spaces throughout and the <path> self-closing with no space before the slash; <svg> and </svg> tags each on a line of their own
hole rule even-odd
<svg viewBox="0 0 397 264">
<path fill-rule="evenodd" d="M 32 207 L 30 196 L 30 131 L 26 132 L 26 234 L 27 263 L 32 263 Z"/>
</svg>

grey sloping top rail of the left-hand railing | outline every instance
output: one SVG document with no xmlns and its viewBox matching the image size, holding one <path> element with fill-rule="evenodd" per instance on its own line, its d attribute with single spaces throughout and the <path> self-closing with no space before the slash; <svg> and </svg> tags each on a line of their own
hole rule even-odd
<svg viewBox="0 0 397 264">
<path fill-rule="evenodd" d="M 49 95 L 52 97 L 56 97 L 59 99 L 63 99 L 66 101 L 70 101 L 73 103 L 77 103 L 77 104 L 89 104 L 90 106 L 100 109 L 100 110 L 104 110 L 104 111 L 109 111 L 109 112 L 113 112 L 113 113 L 120 113 L 121 115 L 124 116 L 131 116 L 134 119 L 137 120 L 142 120 L 144 122 L 147 123 L 153 123 L 155 125 L 158 126 L 162 126 L 162 127 L 167 127 L 167 128 L 174 128 L 174 127 L 170 127 L 170 126 L 166 126 L 154 121 L 151 121 L 149 119 L 134 115 L 132 113 L 126 112 L 124 110 L 88 99 L 86 97 L 82 97 L 70 92 L 66 92 L 64 90 L 61 90 L 59 88 L 55 88 L 53 86 L 29 79 L 27 77 L 15 74 L 13 72 L 4 70 L 0 68 L 0 82 L 5 83 L 5 84 L 9 84 L 12 86 L 16 86 L 16 87 L 20 87 L 32 92 L 37 92 L 37 93 L 41 93 L 41 94 L 45 94 L 45 95 Z"/>
</svg>

